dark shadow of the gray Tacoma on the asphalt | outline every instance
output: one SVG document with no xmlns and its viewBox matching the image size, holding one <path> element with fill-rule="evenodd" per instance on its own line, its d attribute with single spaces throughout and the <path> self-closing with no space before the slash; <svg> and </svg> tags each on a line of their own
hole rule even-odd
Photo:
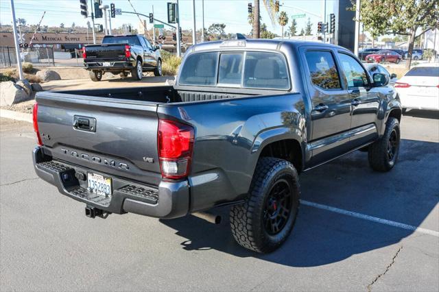
<svg viewBox="0 0 439 292">
<path fill-rule="evenodd" d="M 389 173 L 377 173 L 368 167 L 367 153 L 356 151 L 302 173 L 301 199 L 419 226 L 439 201 L 438 154 L 439 143 L 402 140 L 396 167 Z M 257 254 L 235 243 L 228 210 L 212 210 L 222 215 L 219 226 L 193 216 L 161 222 L 184 238 L 184 250 L 214 249 L 292 267 L 335 263 L 398 243 L 413 233 L 302 204 L 296 226 L 284 245 L 272 254 Z M 423 228 L 438 231 L 435 219 L 429 221 Z"/>
</svg>

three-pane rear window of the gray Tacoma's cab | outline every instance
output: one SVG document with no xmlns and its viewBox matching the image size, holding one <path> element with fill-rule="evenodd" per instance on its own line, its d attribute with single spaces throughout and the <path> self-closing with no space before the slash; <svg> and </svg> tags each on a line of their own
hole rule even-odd
<svg viewBox="0 0 439 292">
<path fill-rule="evenodd" d="M 287 62 L 265 51 L 193 53 L 183 64 L 180 85 L 288 90 Z"/>
</svg>

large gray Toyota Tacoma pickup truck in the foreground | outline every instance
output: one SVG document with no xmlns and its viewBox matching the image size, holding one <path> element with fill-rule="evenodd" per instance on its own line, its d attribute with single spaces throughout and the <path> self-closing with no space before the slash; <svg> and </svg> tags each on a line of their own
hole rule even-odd
<svg viewBox="0 0 439 292">
<path fill-rule="evenodd" d="M 401 103 L 388 81 L 334 45 L 205 42 L 174 86 L 38 93 L 35 170 L 88 217 L 209 219 L 231 205 L 236 241 L 271 252 L 294 226 L 300 172 L 357 149 L 376 171 L 394 167 Z"/>
</svg>

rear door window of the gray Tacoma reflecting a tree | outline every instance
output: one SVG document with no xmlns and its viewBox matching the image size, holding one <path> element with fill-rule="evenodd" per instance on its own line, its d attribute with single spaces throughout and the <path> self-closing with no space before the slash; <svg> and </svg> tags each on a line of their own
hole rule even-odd
<svg viewBox="0 0 439 292">
<path fill-rule="evenodd" d="M 307 51 L 305 53 L 311 82 L 323 89 L 341 89 L 340 75 L 329 51 Z"/>
</svg>

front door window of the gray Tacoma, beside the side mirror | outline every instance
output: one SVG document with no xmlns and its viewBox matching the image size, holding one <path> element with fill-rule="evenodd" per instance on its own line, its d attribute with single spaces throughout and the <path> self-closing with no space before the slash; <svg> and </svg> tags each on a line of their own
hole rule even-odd
<svg viewBox="0 0 439 292">
<path fill-rule="evenodd" d="M 368 75 L 357 60 L 346 53 L 339 53 L 338 56 L 348 82 L 348 89 L 369 86 Z"/>
</svg>

